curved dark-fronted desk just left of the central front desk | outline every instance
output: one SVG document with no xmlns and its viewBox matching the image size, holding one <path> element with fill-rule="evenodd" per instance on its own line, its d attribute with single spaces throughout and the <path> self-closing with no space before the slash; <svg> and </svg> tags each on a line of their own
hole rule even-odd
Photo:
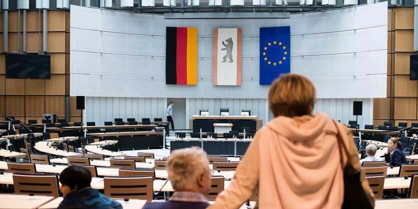
<svg viewBox="0 0 418 209">
<path fill-rule="evenodd" d="M 113 125 L 110 127 L 114 127 L 114 126 L 117 126 L 117 125 Z M 131 126 L 131 125 L 120 125 L 120 126 Z M 93 136 L 99 137 L 100 141 L 117 140 L 118 141 L 117 144 L 113 144 L 107 147 L 107 149 L 111 151 L 161 148 L 163 146 L 163 140 L 164 140 L 162 131 L 126 131 L 126 132 L 108 132 L 108 133 L 87 133 L 87 135 L 93 135 Z"/>
</svg>

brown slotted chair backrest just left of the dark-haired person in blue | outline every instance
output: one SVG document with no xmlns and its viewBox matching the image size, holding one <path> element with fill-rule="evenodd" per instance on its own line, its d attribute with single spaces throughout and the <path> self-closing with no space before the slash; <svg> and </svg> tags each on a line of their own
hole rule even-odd
<svg viewBox="0 0 418 209">
<path fill-rule="evenodd" d="M 13 174 L 15 193 L 34 193 L 59 197 L 58 175 L 55 174 Z"/>
</svg>

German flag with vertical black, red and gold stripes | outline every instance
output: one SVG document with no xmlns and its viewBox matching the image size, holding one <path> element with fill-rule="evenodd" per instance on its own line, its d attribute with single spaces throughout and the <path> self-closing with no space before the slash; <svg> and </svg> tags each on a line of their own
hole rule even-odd
<svg viewBox="0 0 418 209">
<path fill-rule="evenodd" d="M 167 27 L 166 84 L 197 84 L 197 28 Z"/>
</svg>

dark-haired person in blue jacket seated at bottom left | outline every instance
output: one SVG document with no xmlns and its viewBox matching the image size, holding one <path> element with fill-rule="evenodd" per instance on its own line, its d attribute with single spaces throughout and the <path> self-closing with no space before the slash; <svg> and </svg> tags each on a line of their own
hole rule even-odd
<svg viewBox="0 0 418 209">
<path fill-rule="evenodd" d="M 80 207 L 85 209 L 122 209 L 122 204 L 90 186 L 92 173 L 89 169 L 72 165 L 60 174 L 60 190 L 64 199 L 58 208 Z"/>
</svg>

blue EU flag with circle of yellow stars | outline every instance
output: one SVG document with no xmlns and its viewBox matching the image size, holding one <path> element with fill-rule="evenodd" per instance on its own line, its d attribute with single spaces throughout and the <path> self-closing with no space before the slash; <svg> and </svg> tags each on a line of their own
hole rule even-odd
<svg viewBox="0 0 418 209">
<path fill-rule="evenodd" d="M 260 85 L 290 72 L 290 26 L 260 27 Z"/>
</svg>

